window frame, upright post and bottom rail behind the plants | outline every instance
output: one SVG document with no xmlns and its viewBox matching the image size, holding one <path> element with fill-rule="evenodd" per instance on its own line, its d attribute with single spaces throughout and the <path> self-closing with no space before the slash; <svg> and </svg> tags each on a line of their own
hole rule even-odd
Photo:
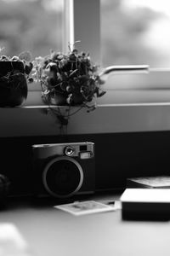
<svg viewBox="0 0 170 256">
<path fill-rule="evenodd" d="M 80 40 L 77 48 L 80 51 L 89 52 L 92 60 L 102 67 L 100 24 L 100 0 L 64 0 L 63 51 L 68 51 L 68 42 L 74 44 L 75 41 Z M 114 75 L 113 73 L 104 84 L 104 89 L 107 91 L 105 97 L 99 99 L 98 102 L 99 104 L 170 102 L 168 81 L 170 81 L 168 69 L 163 71 L 160 69 L 157 72 L 149 71 L 148 74 Z M 39 105 L 41 102 L 40 85 L 29 84 L 28 88 L 29 96 L 26 105 Z M 169 94 L 169 96 L 165 97 L 163 93 L 158 96 L 157 90 L 166 90 L 166 95 Z M 112 100 L 109 94 L 112 94 Z M 146 94 L 147 97 L 145 97 Z"/>
</svg>

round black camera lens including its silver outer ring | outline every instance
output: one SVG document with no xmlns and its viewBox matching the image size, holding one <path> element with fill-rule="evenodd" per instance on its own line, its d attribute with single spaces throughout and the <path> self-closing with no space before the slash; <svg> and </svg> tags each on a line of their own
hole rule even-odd
<svg viewBox="0 0 170 256">
<path fill-rule="evenodd" d="M 45 167 L 42 180 L 50 195 L 69 197 L 82 187 L 82 166 L 71 157 L 55 158 Z"/>
</svg>

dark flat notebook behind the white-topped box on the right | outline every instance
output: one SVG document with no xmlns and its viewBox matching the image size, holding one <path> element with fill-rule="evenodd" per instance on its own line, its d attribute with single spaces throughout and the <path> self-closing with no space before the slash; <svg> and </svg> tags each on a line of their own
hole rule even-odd
<svg viewBox="0 0 170 256">
<path fill-rule="evenodd" d="M 170 189 L 170 176 L 130 177 L 127 188 Z"/>
</svg>

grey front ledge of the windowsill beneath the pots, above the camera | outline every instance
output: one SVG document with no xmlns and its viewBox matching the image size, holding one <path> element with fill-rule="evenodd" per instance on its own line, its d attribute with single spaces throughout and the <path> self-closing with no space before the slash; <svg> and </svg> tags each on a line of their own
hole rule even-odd
<svg viewBox="0 0 170 256">
<path fill-rule="evenodd" d="M 0 108 L 0 137 L 47 136 L 61 134 L 59 121 L 44 105 Z M 55 106 L 53 106 L 55 108 Z M 65 107 L 60 111 L 66 114 Z M 143 131 L 170 131 L 170 102 L 99 104 L 87 113 L 71 107 L 66 134 L 97 134 Z"/>
</svg>

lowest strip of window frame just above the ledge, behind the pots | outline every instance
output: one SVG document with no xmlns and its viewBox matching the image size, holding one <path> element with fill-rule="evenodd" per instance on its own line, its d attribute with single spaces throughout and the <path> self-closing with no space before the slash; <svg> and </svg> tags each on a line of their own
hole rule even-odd
<svg viewBox="0 0 170 256">
<path fill-rule="evenodd" d="M 97 98 L 98 107 L 104 106 L 157 106 L 170 103 L 170 89 L 157 90 L 107 90 L 105 96 Z M 42 102 L 41 91 L 28 92 L 23 108 L 47 108 Z M 54 106 L 53 106 L 54 108 Z"/>
</svg>

